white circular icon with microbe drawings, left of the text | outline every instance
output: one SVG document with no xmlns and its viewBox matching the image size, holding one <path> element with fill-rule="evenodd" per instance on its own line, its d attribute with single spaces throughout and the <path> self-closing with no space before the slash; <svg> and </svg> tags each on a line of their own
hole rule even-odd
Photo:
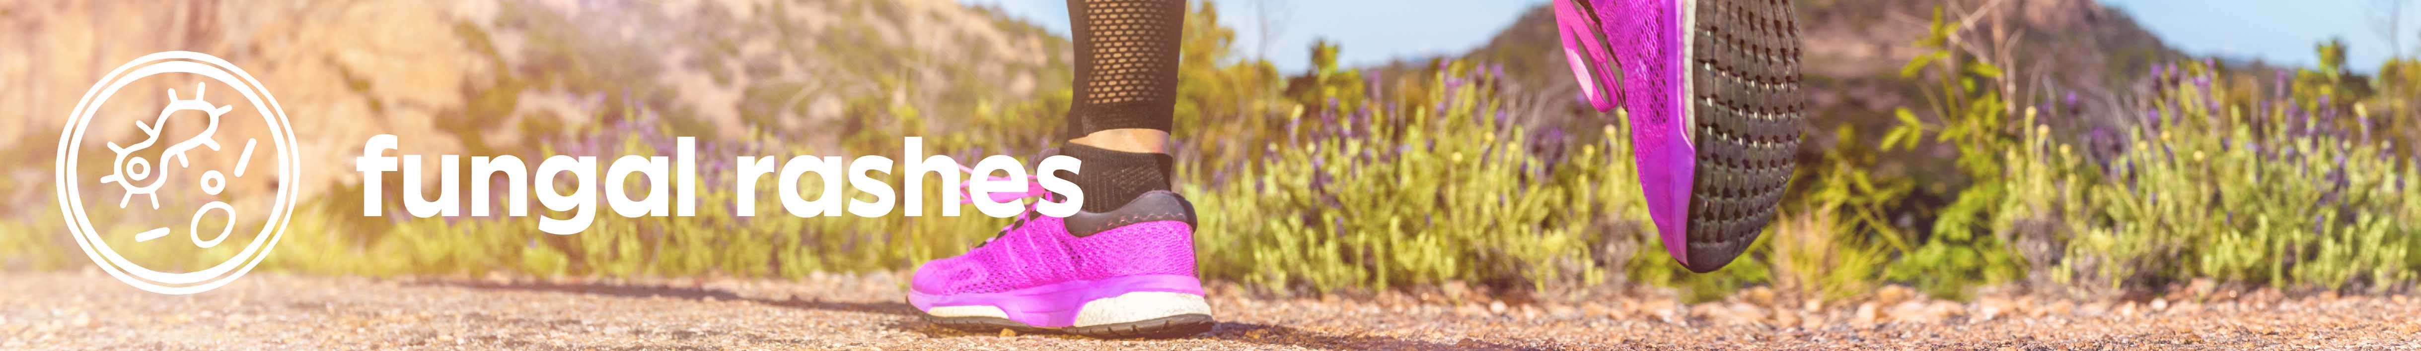
<svg viewBox="0 0 2421 351">
<path fill-rule="evenodd" d="M 94 114 L 102 111 L 102 104 L 107 104 L 109 97 L 114 97 L 126 85 L 133 85 L 143 77 L 169 75 L 169 73 L 199 75 L 203 77 L 203 82 L 194 85 L 191 92 L 167 90 L 169 104 L 162 107 L 155 119 L 138 116 L 133 121 L 133 128 L 140 131 L 145 140 L 123 145 L 107 143 L 109 148 L 107 174 L 99 177 L 77 174 L 77 165 L 85 157 L 80 148 L 85 148 L 87 131 L 128 128 L 128 126 L 94 126 L 92 121 L 97 119 Z M 208 92 L 211 82 L 232 87 L 235 94 L 225 92 L 211 94 Z M 140 94 L 157 94 L 157 92 L 140 92 Z M 242 97 L 245 102 L 242 104 L 211 102 L 211 99 L 235 102 L 230 97 Z M 235 111 L 240 107 L 259 111 L 259 119 L 266 126 L 264 128 L 266 143 L 261 138 L 242 138 L 242 140 L 218 138 L 218 133 L 223 131 L 220 116 L 228 116 L 228 111 Z M 194 121 L 194 111 L 201 111 L 201 116 L 206 119 Z M 184 116 L 177 119 L 179 131 L 191 131 L 189 126 L 182 123 L 201 123 L 201 128 L 191 138 L 167 140 L 172 121 L 169 116 Z M 160 153 L 145 157 L 155 148 Z M 189 157 L 191 153 L 235 153 L 237 160 L 232 169 L 196 169 L 196 162 Z M 99 155 L 92 157 L 94 162 L 102 160 Z M 80 102 L 75 102 L 75 111 L 68 114 L 68 126 L 58 136 L 56 169 L 58 169 L 56 179 L 58 206 L 68 220 L 68 232 L 75 235 L 75 244 L 82 247 L 85 254 L 92 257 L 97 266 L 102 266 L 102 271 L 109 271 L 109 276 L 116 276 L 119 281 L 126 281 L 128 286 L 143 290 L 172 293 L 172 295 L 203 293 L 218 286 L 228 286 L 230 281 L 245 276 L 245 271 L 252 271 L 252 266 L 259 266 L 261 259 L 269 257 L 269 249 L 276 247 L 278 237 L 286 232 L 286 220 L 295 206 L 293 198 L 295 194 L 286 184 L 300 179 L 295 177 L 298 167 L 293 148 L 293 126 L 286 121 L 286 111 L 278 109 L 278 99 L 269 97 L 269 90 L 261 87 L 259 80 L 252 80 L 252 75 L 247 75 L 242 68 L 235 68 L 232 63 L 220 61 L 215 56 L 194 51 L 150 53 L 126 65 L 119 65 L 116 70 L 109 70 L 109 75 L 102 75 L 102 80 L 94 82 L 92 90 L 87 90 Z M 247 169 L 261 169 L 261 172 L 247 172 Z M 201 179 L 194 184 L 169 184 L 174 177 L 189 177 L 189 174 L 201 174 Z M 87 211 L 85 203 L 87 194 L 85 189 L 80 189 L 80 184 L 87 182 L 111 184 L 92 189 L 94 194 L 90 196 L 99 196 L 102 201 L 90 206 L 123 208 L 123 211 L 162 211 L 157 194 L 162 186 L 201 189 L 213 198 L 208 203 L 201 203 L 199 211 L 191 213 L 191 220 L 179 220 L 172 225 L 131 232 L 131 237 L 133 242 L 150 242 L 167 237 L 174 242 L 189 242 L 194 249 L 211 249 L 223 244 L 223 240 L 228 240 L 230 235 L 235 235 L 237 215 L 249 215 L 242 213 L 237 206 L 215 198 L 223 191 L 228 191 L 230 177 L 247 179 L 245 174 L 274 177 L 274 182 L 264 182 L 274 186 L 274 198 L 269 198 L 266 213 L 259 213 L 264 218 L 259 220 L 261 230 L 252 235 L 249 244 L 245 244 L 242 252 L 235 252 L 225 261 L 211 264 L 199 271 L 155 271 L 150 266 L 126 259 L 123 254 L 119 254 L 119 249 L 111 249 L 111 244 L 104 242 L 104 237 L 128 235 L 128 232 L 104 232 L 104 230 L 126 228 L 128 223 L 109 223 L 109 228 L 97 230 L 92 225 L 92 213 Z M 218 230 L 203 230 L 206 215 L 220 215 L 228 220 L 225 225 L 218 225 Z M 169 232 L 174 230 L 186 230 L 186 235 L 172 237 Z M 174 244 L 174 242 L 162 242 L 162 244 Z M 242 244 L 242 242 L 230 242 L 230 244 Z"/>
</svg>

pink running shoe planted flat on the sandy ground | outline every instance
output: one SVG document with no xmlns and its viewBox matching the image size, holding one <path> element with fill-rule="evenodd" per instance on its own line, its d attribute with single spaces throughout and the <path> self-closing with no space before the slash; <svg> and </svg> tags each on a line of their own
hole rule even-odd
<svg viewBox="0 0 2421 351">
<path fill-rule="evenodd" d="M 1041 194 L 1048 191 L 990 196 Z M 1109 213 L 1051 218 L 1029 208 L 976 249 L 918 266 L 908 305 L 968 332 L 1131 339 L 1189 336 L 1215 324 L 1194 276 L 1194 203 L 1172 191 L 1135 196 Z"/>
</svg>

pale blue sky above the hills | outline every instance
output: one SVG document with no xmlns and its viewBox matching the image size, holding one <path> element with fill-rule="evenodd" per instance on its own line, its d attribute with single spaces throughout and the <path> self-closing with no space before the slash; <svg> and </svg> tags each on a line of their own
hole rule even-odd
<svg viewBox="0 0 2421 351">
<path fill-rule="evenodd" d="M 997 5 L 1058 34 L 1068 34 L 1068 0 L 959 0 Z M 1237 29 L 1240 48 L 1259 46 L 1254 5 L 1278 10 L 1283 24 L 1266 56 L 1283 70 L 1302 70 L 1312 39 L 1344 44 L 1339 61 L 1375 65 L 1392 58 L 1460 53 L 1486 44 L 1523 10 L 1545 0 L 1223 0 L 1220 22 Z M 2387 58 L 2387 41 L 2370 29 L 2373 0 L 2104 0 L 2126 10 L 2172 46 L 2201 56 L 2264 58 L 2312 65 L 2312 44 L 2346 39 L 2351 63 L 2373 70 Z M 2421 0 L 2406 5 L 2406 51 L 2421 36 Z"/>
</svg>

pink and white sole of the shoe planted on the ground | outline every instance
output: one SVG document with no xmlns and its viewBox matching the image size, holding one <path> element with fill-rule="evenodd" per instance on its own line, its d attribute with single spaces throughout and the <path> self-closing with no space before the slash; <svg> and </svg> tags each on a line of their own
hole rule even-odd
<svg viewBox="0 0 2421 351">
<path fill-rule="evenodd" d="M 1218 324 L 1191 276 L 1119 276 L 1005 293 L 922 295 L 932 324 L 966 332 L 1070 332 L 1099 339 L 1189 336 Z"/>
</svg>

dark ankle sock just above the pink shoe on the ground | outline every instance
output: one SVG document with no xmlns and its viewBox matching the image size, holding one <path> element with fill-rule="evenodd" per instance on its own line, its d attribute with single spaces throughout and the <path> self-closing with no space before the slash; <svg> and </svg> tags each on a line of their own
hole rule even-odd
<svg viewBox="0 0 2421 351">
<path fill-rule="evenodd" d="M 1085 189 L 1087 213 L 1119 211 L 1135 196 L 1167 191 L 1172 165 L 1177 165 L 1167 153 L 1123 153 L 1077 143 L 1063 145 L 1058 155 L 1085 160 L 1077 174 L 1065 179 Z"/>
</svg>

